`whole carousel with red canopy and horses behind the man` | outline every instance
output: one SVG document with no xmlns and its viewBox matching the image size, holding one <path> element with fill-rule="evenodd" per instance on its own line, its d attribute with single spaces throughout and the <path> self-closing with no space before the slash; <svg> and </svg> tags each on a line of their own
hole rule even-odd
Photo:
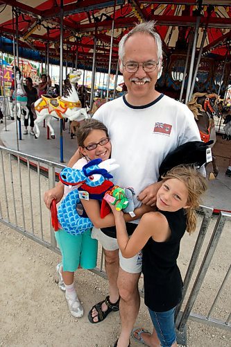
<svg viewBox="0 0 231 347">
<path fill-rule="evenodd" d="M 230 1 L 225 0 L 155 3 L 142 0 L 67 3 L 61 0 L 56 6 L 51 0 L 42 0 L 39 5 L 35 0 L 29 5 L 28 1 L 1 0 L 2 75 L 6 68 L 3 53 L 14 57 L 15 99 L 10 106 L 4 78 L 1 88 L 5 131 L 8 113 L 16 124 L 11 144 L 15 143 L 15 149 L 20 151 L 31 149 L 34 154 L 39 153 L 40 144 L 47 142 L 46 147 L 53 147 L 55 161 L 65 162 L 73 152 L 71 139 L 74 139 L 78 122 L 91 117 L 103 103 L 117 97 L 118 90 L 126 93 L 126 86 L 117 83 L 119 40 L 137 22 L 155 20 L 164 54 L 156 89 L 186 103 L 194 113 L 201 139 L 204 142 L 213 140 L 209 178 L 219 178 L 221 165 L 217 158 L 225 153 L 228 161 L 231 144 L 230 17 Z M 23 76 L 27 75 L 24 66 L 19 68 L 21 59 L 40 62 L 47 76 L 51 75 L 52 65 L 60 66 L 58 94 L 52 94 L 55 86 L 51 86 L 51 93 L 42 95 L 32 105 L 35 136 L 30 138 L 23 136 L 21 130 L 22 118 L 28 117 L 23 83 Z M 92 71 L 89 92 L 85 85 L 87 71 Z M 105 85 L 105 92 L 97 96 L 96 73 L 102 74 Z M 77 90 L 80 74 L 83 85 Z M 114 85 L 110 88 L 112 74 Z M 71 121 L 69 132 L 65 130 L 68 128 L 66 121 Z M 46 124 L 47 130 L 42 124 Z"/>
</svg>

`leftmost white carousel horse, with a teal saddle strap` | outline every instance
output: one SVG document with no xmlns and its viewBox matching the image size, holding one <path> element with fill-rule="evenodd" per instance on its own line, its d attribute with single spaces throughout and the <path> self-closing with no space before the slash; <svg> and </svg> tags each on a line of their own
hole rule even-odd
<svg viewBox="0 0 231 347">
<path fill-rule="evenodd" d="M 23 84 L 23 76 L 22 76 L 22 72 L 17 69 L 16 71 L 16 101 L 17 101 L 17 110 L 16 110 L 16 115 L 17 115 L 17 119 L 21 119 L 21 115 L 22 115 L 22 110 L 24 110 L 26 112 L 25 118 L 28 119 L 28 115 L 29 115 L 29 110 L 26 107 L 27 104 L 27 95 L 26 92 L 24 90 L 24 84 Z M 14 108 L 15 108 L 15 92 L 13 92 L 12 94 L 12 106 L 11 106 L 11 110 L 10 110 L 10 116 L 11 119 L 14 119 Z"/>
</svg>

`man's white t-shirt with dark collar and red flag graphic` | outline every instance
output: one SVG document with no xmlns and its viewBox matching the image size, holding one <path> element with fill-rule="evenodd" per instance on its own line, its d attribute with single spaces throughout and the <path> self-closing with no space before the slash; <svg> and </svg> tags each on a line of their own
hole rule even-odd
<svg viewBox="0 0 231 347">
<path fill-rule="evenodd" d="M 193 113 L 161 94 L 153 103 L 130 105 L 124 96 L 102 105 L 94 114 L 108 128 L 111 158 L 120 165 L 112 172 L 120 187 L 133 187 L 135 196 L 159 178 L 168 153 L 189 141 L 200 141 Z M 139 201 L 135 198 L 136 207 Z"/>
</svg>

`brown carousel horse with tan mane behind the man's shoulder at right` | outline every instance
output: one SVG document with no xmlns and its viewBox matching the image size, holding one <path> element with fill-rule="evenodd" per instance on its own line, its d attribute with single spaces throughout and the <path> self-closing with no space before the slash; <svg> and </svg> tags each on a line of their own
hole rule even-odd
<svg viewBox="0 0 231 347">
<path fill-rule="evenodd" d="M 195 93 L 191 101 L 187 103 L 189 110 L 194 114 L 203 142 L 213 140 L 213 144 L 209 146 L 211 149 L 216 143 L 214 116 L 221 117 L 221 112 L 217 105 L 218 99 L 219 96 L 217 94 Z M 219 174 L 219 167 L 213 154 L 212 167 L 213 172 L 209 174 L 210 180 L 216 178 Z"/>
</svg>

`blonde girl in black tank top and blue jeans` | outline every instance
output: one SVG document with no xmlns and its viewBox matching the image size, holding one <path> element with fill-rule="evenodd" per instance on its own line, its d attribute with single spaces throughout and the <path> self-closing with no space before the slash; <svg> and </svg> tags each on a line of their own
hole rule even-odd
<svg viewBox="0 0 231 347">
<path fill-rule="evenodd" d="M 153 333 L 137 328 L 132 336 L 146 346 L 177 346 L 174 325 L 176 305 L 182 298 L 182 278 L 177 265 L 185 230 L 196 228 L 196 208 L 206 190 L 205 178 L 192 167 L 178 166 L 164 176 L 157 192 L 157 212 L 144 214 L 129 238 L 123 212 L 110 205 L 123 257 L 143 248 L 144 303 L 153 321 Z"/>
</svg>

